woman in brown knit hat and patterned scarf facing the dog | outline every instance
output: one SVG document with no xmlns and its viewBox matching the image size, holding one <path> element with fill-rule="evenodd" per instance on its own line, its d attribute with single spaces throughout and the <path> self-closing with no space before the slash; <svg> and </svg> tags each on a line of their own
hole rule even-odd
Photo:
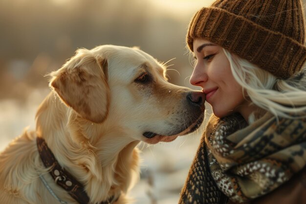
<svg viewBox="0 0 306 204">
<path fill-rule="evenodd" d="M 190 82 L 210 117 L 180 204 L 306 203 L 300 0 L 217 0 L 191 21 Z"/>
</svg>

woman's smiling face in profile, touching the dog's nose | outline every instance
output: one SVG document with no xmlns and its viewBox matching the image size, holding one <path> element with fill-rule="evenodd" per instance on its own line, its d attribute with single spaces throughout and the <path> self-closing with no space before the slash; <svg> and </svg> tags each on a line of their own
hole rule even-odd
<svg viewBox="0 0 306 204">
<path fill-rule="evenodd" d="M 190 83 L 206 93 L 206 101 L 217 117 L 239 112 L 247 120 L 250 102 L 244 99 L 222 47 L 204 39 L 194 40 L 193 45 L 196 65 Z"/>
</svg>

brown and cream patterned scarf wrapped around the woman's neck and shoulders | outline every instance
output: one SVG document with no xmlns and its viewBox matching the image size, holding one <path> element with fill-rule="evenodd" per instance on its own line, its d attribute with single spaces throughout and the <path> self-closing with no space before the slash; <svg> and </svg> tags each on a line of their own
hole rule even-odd
<svg viewBox="0 0 306 204">
<path fill-rule="evenodd" d="M 247 203 L 306 166 L 306 118 L 211 116 L 179 204 Z"/>
</svg>

